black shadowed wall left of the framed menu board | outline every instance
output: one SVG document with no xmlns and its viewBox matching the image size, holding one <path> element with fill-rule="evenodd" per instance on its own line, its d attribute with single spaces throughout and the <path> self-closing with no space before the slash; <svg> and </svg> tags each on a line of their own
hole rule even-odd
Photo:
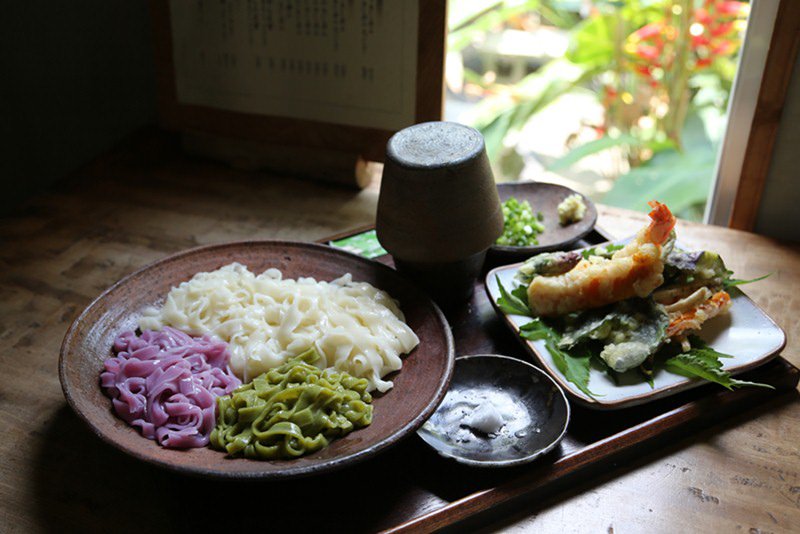
<svg viewBox="0 0 800 534">
<path fill-rule="evenodd" d="M 6 2 L 0 215 L 154 123 L 145 0 Z"/>
</svg>

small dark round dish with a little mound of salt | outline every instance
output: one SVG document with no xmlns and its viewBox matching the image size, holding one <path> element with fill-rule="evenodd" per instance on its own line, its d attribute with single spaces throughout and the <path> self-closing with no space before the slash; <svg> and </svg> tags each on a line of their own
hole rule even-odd
<svg viewBox="0 0 800 534">
<path fill-rule="evenodd" d="M 476 412 L 499 414 L 502 427 L 487 433 L 469 426 L 487 424 Z M 508 356 L 461 356 L 442 404 L 417 434 L 440 455 L 462 464 L 506 467 L 553 450 L 569 416 L 563 390 L 533 365 Z M 492 416 L 488 419 L 492 426 Z"/>
</svg>

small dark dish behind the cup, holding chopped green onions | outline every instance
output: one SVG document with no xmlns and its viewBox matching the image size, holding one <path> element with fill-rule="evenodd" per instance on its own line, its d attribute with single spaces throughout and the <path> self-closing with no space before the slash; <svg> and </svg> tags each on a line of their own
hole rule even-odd
<svg viewBox="0 0 800 534">
<path fill-rule="evenodd" d="M 520 202 L 527 200 L 534 213 L 541 212 L 544 216 L 544 232 L 539 234 L 538 245 L 529 247 L 511 247 L 506 245 L 492 245 L 492 256 L 503 260 L 524 260 L 552 250 L 563 250 L 570 243 L 577 241 L 592 231 L 597 222 L 597 208 L 586 196 L 581 195 L 586 204 L 586 213 L 578 222 L 561 226 L 558 222 L 558 205 L 570 195 L 576 194 L 569 187 L 548 184 L 545 182 L 520 182 L 497 184 L 497 193 L 500 202 L 505 202 L 514 197 Z M 580 193 L 578 193 L 580 194 Z"/>
</svg>

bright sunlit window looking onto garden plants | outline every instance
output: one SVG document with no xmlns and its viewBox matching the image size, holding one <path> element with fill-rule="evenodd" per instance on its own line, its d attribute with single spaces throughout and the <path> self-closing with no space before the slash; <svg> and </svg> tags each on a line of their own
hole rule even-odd
<svg viewBox="0 0 800 534">
<path fill-rule="evenodd" d="M 450 0 L 446 117 L 478 128 L 498 181 L 700 220 L 749 4 Z"/>
</svg>

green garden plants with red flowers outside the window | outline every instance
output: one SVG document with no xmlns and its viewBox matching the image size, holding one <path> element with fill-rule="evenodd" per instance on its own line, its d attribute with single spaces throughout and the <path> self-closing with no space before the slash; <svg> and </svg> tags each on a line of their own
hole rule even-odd
<svg viewBox="0 0 800 534">
<path fill-rule="evenodd" d="M 630 171 L 615 180 L 602 202 L 645 210 L 647 200 L 657 198 L 683 218 L 702 217 L 724 131 L 746 4 L 595 1 L 582 20 L 568 2 L 472 4 L 473 11 L 455 11 L 461 20 L 451 26 L 451 50 L 460 50 L 480 32 L 526 11 L 539 10 L 542 18 L 569 31 L 563 58 L 551 60 L 513 86 L 482 84 L 493 96 L 479 104 L 473 125 L 484 134 L 498 174 L 513 178 L 521 170 L 522 157 L 509 139 L 532 117 L 565 94 L 588 93 L 605 109 L 602 135 L 574 147 L 548 170 L 557 172 L 588 155 L 618 150 Z M 465 77 L 482 83 L 477 73 Z"/>
</svg>

